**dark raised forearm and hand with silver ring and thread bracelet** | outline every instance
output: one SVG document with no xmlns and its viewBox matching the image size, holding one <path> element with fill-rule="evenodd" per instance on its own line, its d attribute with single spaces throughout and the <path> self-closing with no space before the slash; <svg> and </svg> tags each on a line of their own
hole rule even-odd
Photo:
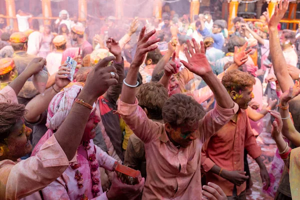
<svg viewBox="0 0 300 200">
<path fill-rule="evenodd" d="M 92 105 L 110 85 L 117 84 L 118 75 L 116 74 L 116 69 L 113 66 L 105 67 L 114 58 L 113 56 L 105 57 L 96 64 L 87 75 L 85 85 L 79 93 L 78 99 L 82 99 L 85 103 Z M 111 77 L 110 72 L 115 73 L 114 78 Z M 89 115 L 89 108 L 82 104 L 74 103 L 66 119 L 54 134 L 69 160 L 76 153 Z M 76 132 L 75 135 L 74 132 Z"/>
</svg>

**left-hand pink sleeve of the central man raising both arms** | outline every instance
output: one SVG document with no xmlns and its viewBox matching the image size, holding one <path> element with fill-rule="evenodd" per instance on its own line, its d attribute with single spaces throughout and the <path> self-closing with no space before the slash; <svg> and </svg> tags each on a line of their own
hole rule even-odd
<svg viewBox="0 0 300 200">
<path fill-rule="evenodd" d="M 163 125 L 147 117 L 143 109 L 138 106 L 137 98 L 135 98 L 134 104 L 128 104 L 119 100 L 117 107 L 117 112 L 125 123 L 143 142 L 150 142 L 161 133 Z"/>
</svg>

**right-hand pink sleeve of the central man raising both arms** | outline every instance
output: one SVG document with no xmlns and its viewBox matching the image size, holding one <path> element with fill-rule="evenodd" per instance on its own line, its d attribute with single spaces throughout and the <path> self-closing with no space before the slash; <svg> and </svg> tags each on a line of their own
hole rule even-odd
<svg viewBox="0 0 300 200">
<path fill-rule="evenodd" d="M 234 103 L 234 106 L 230 109 L 225 109 L 216 104 L 215 108 L 207 112 L 207 114 L 200 120 L 200 133 L 201 142 L 204 143 L 206 139 L 217 132 L 223 127 L 237 112 L 238 105 Z"/>
</svg>

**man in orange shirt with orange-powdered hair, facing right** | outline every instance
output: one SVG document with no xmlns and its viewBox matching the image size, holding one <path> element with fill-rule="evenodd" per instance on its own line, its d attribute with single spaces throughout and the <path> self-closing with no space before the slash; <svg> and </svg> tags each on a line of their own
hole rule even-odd
<svg viewBox="0 0 300 200">
<path fill-rule="evenodd" d="M 254 83 L 255 79 L 246 72 L 236 69 L 226 72 L 222 84 L 239 109 L 202 147 L 201 167 L 206 172 L 206 183 L 219 185 L 227 199 L 246 199 L 245 180 L 249 176 L 244 172 L 244 149 L 259 165 L 263 188 L 267 189 L 270 185 L 246 110 L 249 101 L 254 97 Z"/>
</svg>

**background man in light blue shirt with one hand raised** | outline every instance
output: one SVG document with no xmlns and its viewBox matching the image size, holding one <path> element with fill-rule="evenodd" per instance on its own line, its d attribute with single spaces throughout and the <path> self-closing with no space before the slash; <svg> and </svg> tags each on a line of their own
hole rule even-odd
<svg viewBox="0 0 300 200">
<path fill-rule="evenodd" d="M 201 26 L 198 29 L 200 34 L 205 37 L 205 36 L 210 36 L 213 38 L 214 43 L 213 47 L 217 49 L 222 49 L 223 44 L 224 44 L 224 35 L 222 33 L 222 30 L 224 29 L 224 23 L 221 20 L 215 20 L 212 25 L 212 30 L 209 32 L 209 30 L 205 27 L 204 25 L 204 17 L 199 16 Z"/>
</svg>

